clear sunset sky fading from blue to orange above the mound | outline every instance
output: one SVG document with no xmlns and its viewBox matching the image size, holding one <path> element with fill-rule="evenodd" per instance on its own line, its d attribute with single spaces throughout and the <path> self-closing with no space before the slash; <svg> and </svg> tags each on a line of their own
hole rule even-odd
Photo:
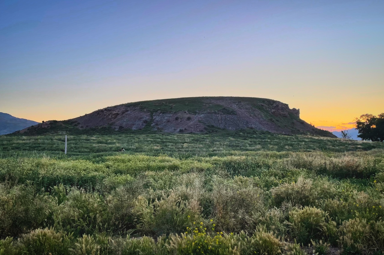
<svg viewBox="0 0 384 255">
<path fill-rule="evenodd" d="M 0 111 L 252 96 L 316 127 L 384 112 L 384 1 L 0 1 Z"/>
</svg>

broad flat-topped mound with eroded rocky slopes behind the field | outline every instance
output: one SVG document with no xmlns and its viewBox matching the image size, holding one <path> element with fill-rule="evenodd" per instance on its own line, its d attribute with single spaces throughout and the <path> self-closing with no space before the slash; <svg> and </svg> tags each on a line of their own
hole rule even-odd
<svg viewBox="0 0 384 255">
<path fill-rule="evenodd" d="M 142 101 L 117 105 L 63 121 L 79 129 L 112 127 L 163 132 L 205 132 L 207 126 L 239 130 L 253 128 L 283 134 L 320 132 L 300 119 L 299 109 L 280 101 L 248 97 L 196 97 Z M 46 122 L 40 128 L 46 128 Z M 23 132 L 23 131 L 22 131 Z"/>
</svg>

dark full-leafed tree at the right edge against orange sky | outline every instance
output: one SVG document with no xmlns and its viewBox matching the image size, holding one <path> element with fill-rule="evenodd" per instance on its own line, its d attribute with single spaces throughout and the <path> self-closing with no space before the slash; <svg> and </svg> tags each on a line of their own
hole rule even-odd
<svg viewBox="0 0 384 255">
<path fill-rule="evenodd" d="M 356 118 L 356 129 L 359 131 L 358 137 L 362 140 L 372 142 L 384 141 L 384 113 L 377 116 L 373 114 L 363 114 Z"/>
</svg>

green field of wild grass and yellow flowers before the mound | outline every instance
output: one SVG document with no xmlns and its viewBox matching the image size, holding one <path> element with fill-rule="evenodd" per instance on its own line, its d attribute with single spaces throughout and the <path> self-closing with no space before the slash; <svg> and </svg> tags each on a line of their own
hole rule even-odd
<svg viewBox="0 0 384 255">
<path fill-rule="evenodd" d="M 0 255 L 383 254 L 383 143 L 250 129 L 63 150 L 0 136 Z"/>
</svg>

